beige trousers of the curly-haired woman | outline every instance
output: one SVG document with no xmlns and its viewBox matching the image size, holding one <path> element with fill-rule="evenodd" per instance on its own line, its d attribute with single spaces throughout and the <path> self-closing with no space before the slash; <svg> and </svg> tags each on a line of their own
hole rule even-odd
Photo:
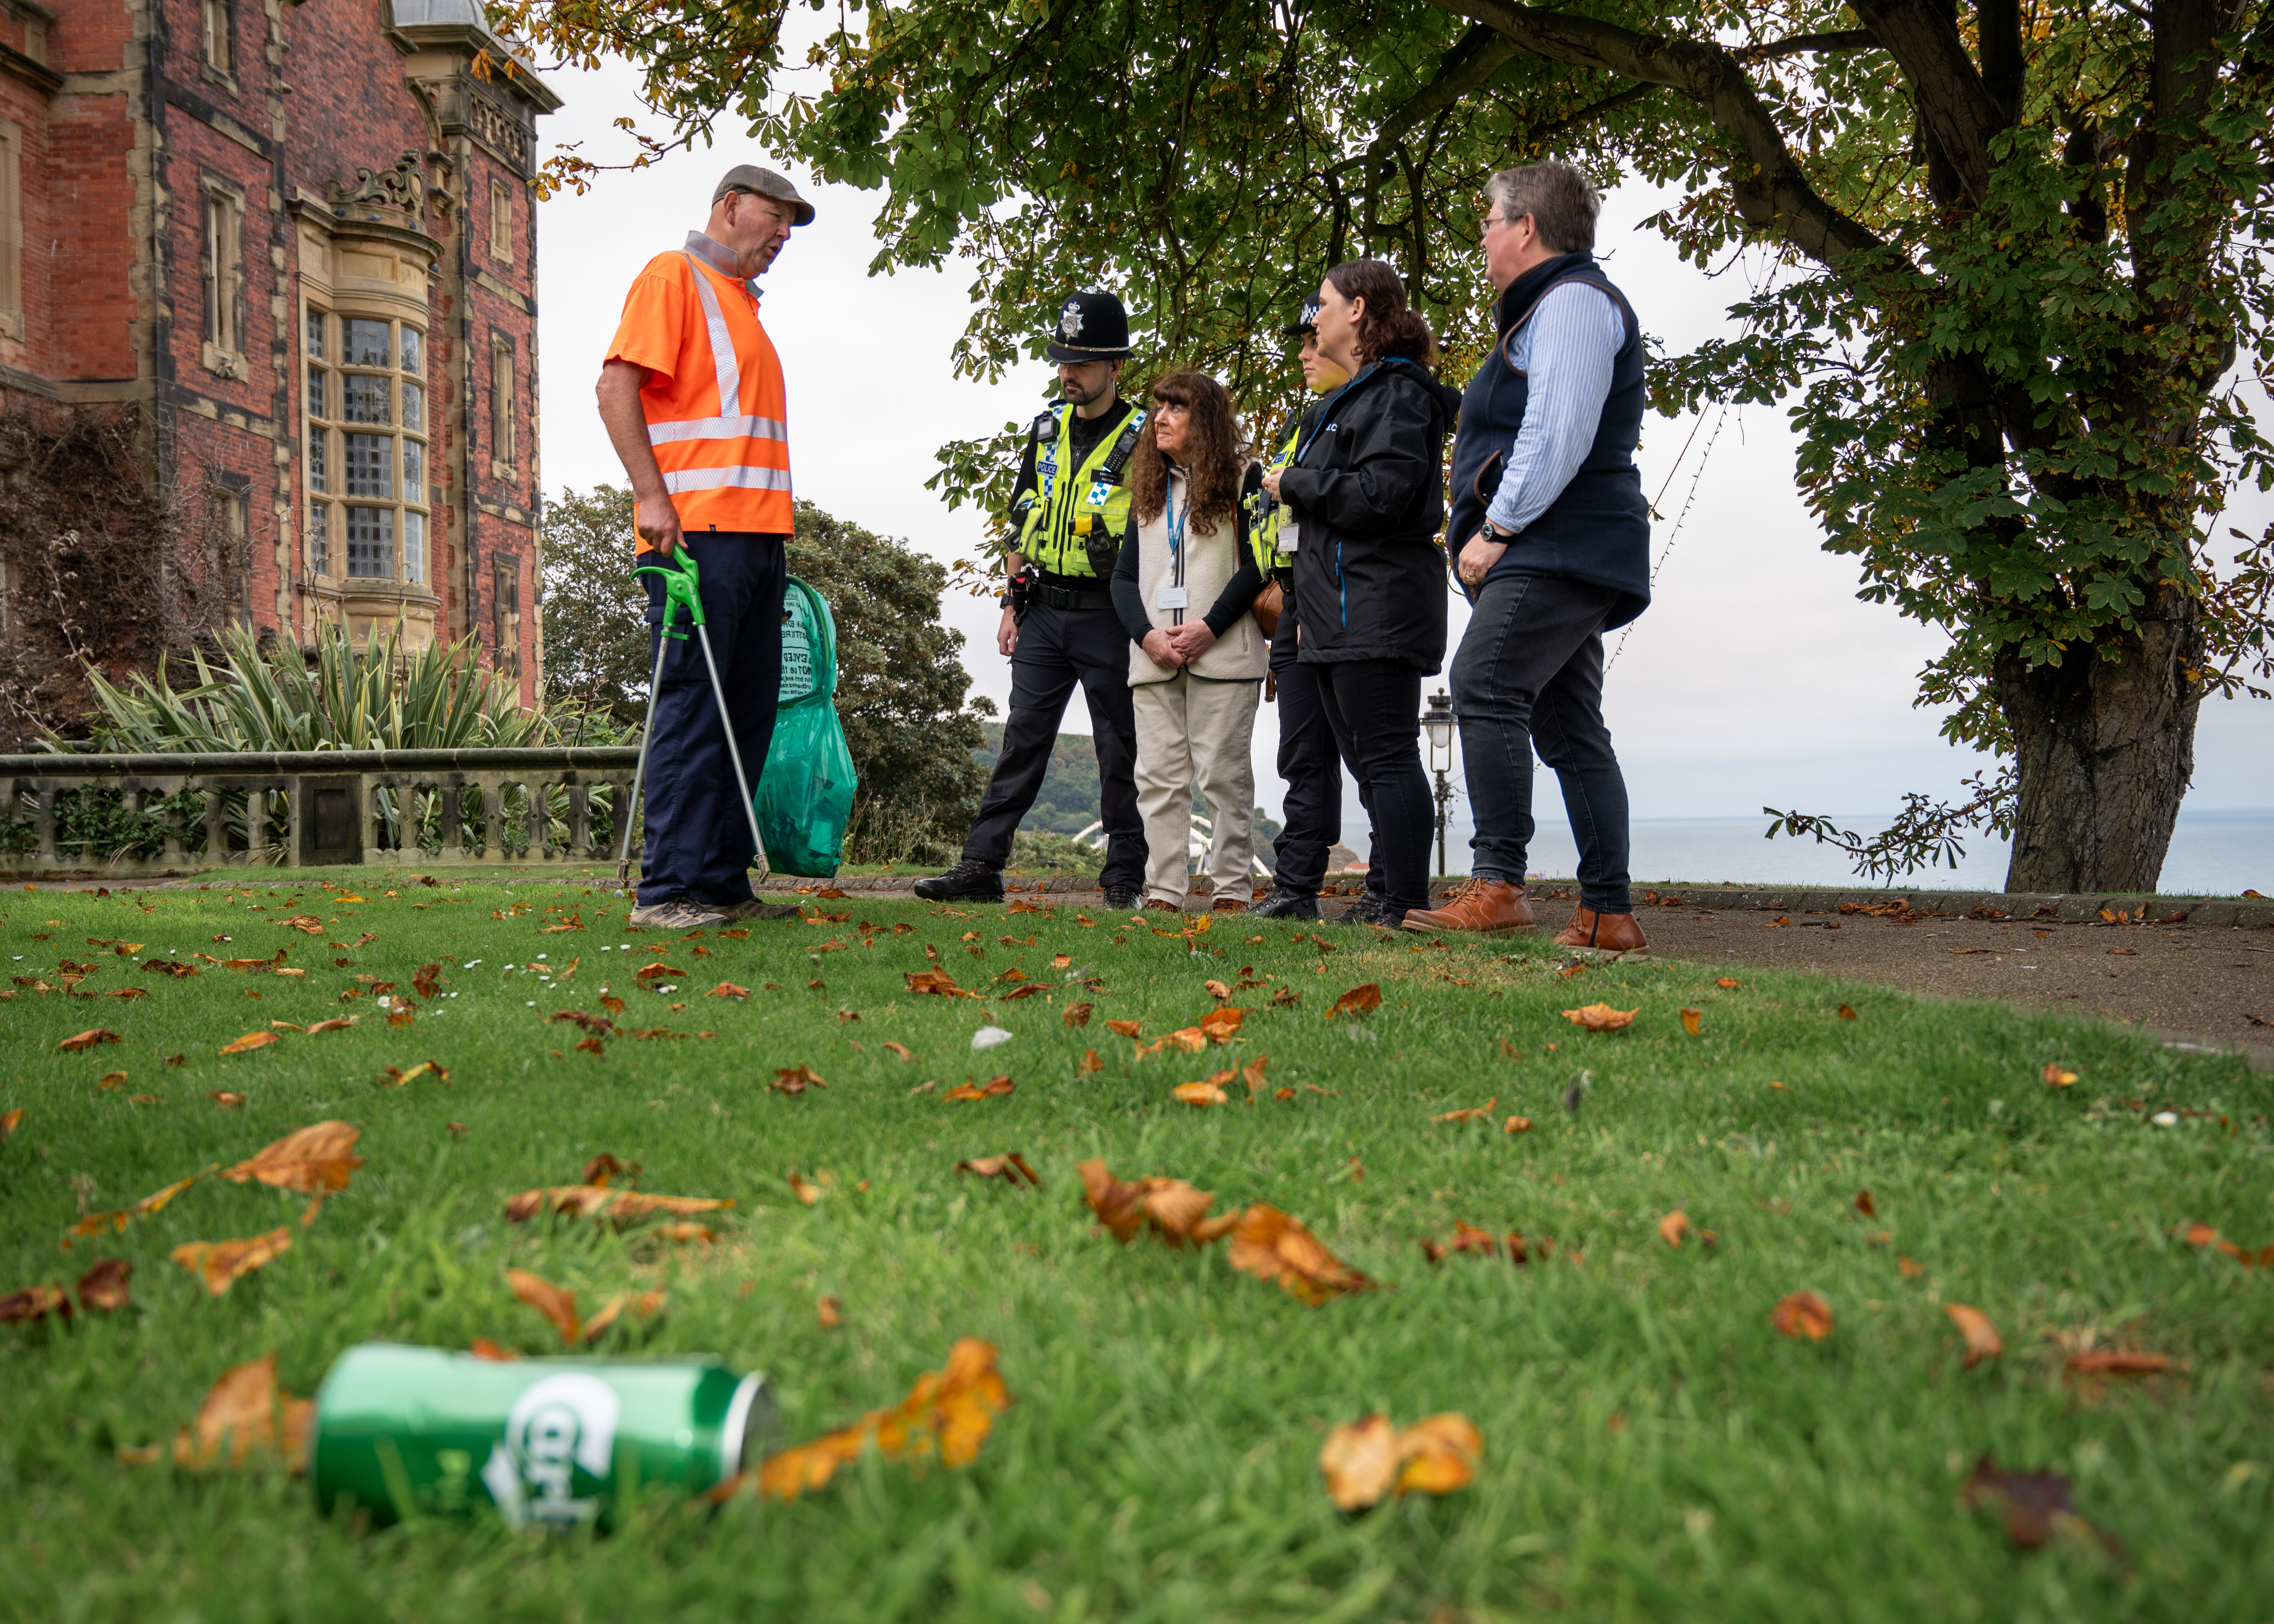
<svg viewBox="0 0 2274 1624">
<path fill-rule="evenodd" d="M 1214 896 L 1248 901 L 1255 857 L 1255 701 L 1260 682 L 1205 682 L 1178 671 L 1130 689 L 1137 705 L 1137 812 L 1144 814 L 1146 901 L 1185 905 L 1192 792 L 1214 839 L 1201 869 Z"/>
</svg>

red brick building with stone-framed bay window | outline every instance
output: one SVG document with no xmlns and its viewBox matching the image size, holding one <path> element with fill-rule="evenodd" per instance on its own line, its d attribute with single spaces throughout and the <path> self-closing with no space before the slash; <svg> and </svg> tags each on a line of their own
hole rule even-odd
<svg viewBox="0 0 2274 1624">
<path fill-rule="evenodd" d="M 130 414 L 241 614 L 534 701 L 537 114 L 478 0 L 0 0 L 0 405 Z"/>
</svg>

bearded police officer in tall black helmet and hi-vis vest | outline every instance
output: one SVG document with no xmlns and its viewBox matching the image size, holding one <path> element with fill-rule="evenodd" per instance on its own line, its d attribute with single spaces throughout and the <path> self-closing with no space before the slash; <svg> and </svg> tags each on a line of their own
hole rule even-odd
<svg viewBox="0 0 2274 1624">
<path fill-rule="evenodd" d="M 1107 908 L 1137 908 L 1144 821 L 1137 814 L 1137 710 L 1130 635 L 1107 582 L 1128 523 L 1123 478 L 1144 412 L 1121 398 L 1130 318 L 1112 293 L 1073 293 L 1057 312 L 1048 357 L 1062 403 L 1035 419 L 1010 505 L 1010 591 L 996 648 L 1010 660 L 1010 714 L 987 798 L 946 873 L 916 880 L 930 901 L 1003 901 L 1003 864 L 1019 819 L 1035 805 L 1073 685 L 1089 698 L 1107 848 L 1098 887 Z"/>
</svg>

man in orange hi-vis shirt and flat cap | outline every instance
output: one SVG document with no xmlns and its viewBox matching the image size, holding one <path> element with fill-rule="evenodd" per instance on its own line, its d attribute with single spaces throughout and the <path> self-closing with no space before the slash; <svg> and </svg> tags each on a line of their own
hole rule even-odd
<svg viewBox="0 0 2274 1624">
<path fill-rule="evenodd" d="M 782 175 L 730 168 L 705 227 L 632 282 L 600 366 L 600 421 L 632 475 L 637 553 L 673 560 L 687 548 L 703 573 L 703 619 L 753 792 L 782 694 L 791 505 L 789 396 L 750 277 L 812 218 Z M 648 625 L 659 628 L 662 578 L 641 580 Z M 691 637 L 673 639 L 662 671 L 632 923 L 691 930 L 796 912 L 764 908 L 750 892 L 757 851 L 703 651 Z"/>
</svg>

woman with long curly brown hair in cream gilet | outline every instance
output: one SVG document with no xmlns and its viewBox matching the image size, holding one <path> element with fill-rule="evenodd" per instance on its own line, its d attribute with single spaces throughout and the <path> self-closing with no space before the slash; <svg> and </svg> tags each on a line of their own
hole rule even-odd
<svg viewBox="0 0 2274 1624">
<path fill-rule="evenodd" d="M 1244 487 L 1258 478 L 1233 396 L 1205 373 L 1153 384 L 1130 462 L 1130 516 L 1114 562 L 1114 610 L 1130 639 L 1137 810 L 1146 908 L 1185 908 L 1192 792 L 1207 805 L 1217 912 L 1246 912 L 1253 867 L 1255 701 L 1271 646 L 1255 625 L 1262 575 Z"/>
</svg>

